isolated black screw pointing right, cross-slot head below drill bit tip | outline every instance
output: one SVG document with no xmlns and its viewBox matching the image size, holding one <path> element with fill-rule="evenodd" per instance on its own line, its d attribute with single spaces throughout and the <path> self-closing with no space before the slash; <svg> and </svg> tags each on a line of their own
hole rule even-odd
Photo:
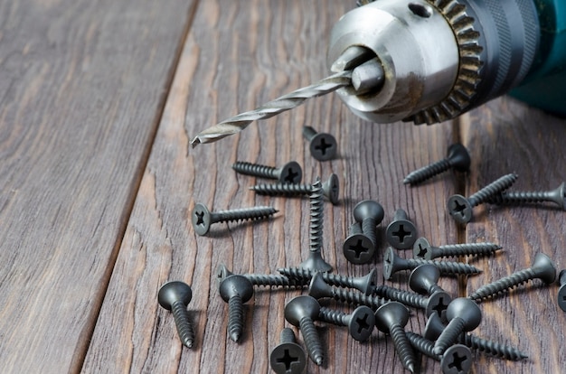
<svg viewBox="0 0 566 374">
<path fill-rule="evenodd" d="M 191 214 L 193 229 L 198 235 L 206 235 L 211 229 L 212 223 L 230 222 L 238 220 L 265 220 L 277 213 L 278 210 L 271 207 L 253 207 L 234 210 L 219 210 L 213 212 L 204 204 L 196 204 Z"/>
</svg>

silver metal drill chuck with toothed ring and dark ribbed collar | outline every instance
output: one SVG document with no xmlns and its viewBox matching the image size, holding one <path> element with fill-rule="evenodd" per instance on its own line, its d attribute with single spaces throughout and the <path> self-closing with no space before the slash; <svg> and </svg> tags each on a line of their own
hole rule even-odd
<svg viewBox="0 0 566 374">
<path fill-rule="evenodd" d="M 359 117 L 442 122 L 517 86 L 540 27 L 528 0 L 377 0 L 335 24 L 327 61 L 364 49 L 382 66 L 377 89 L 337 92 Z"/>
</svg>

